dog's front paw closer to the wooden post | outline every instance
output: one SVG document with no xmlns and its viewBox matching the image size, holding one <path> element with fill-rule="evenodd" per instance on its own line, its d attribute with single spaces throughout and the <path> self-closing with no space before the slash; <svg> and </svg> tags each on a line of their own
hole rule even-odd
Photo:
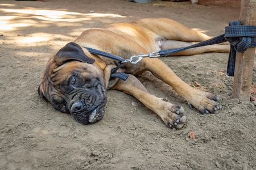
<svg viewBox="0 0 256 170">
<path fill-rule="evenodd" d="M 218 96 L 209 92 L 195 91 L 192 100 L 188 100 L 189 107 L 196 108 L 201 114 L 216 113 L 222 106 L 218 101 Z"/>
</svg>

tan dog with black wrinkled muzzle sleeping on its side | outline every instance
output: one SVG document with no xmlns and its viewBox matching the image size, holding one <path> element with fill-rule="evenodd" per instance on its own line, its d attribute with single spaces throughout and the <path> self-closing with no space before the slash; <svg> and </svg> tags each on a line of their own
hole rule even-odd
<svg viewBox="0 0 256 170">
<path fill-rule="evenodd" d="M 86 48 L 128 59 L 140 53 L 179 48 L 210 38 L 212 37 L 165 18 L 141 19 L 88 29 L 49 58 L 38 93 L 53 108 L 71 113 L 76 121 L 88 125 L 104 117 L 106 90 L 123 91 L 158 114 L 165 125 L 181 129 L 186 121 L 183 107 L 151 95 L 136 76 L 150 71 L 203 114 L 221 109 L 217 95 L 192 88 L 158 58 L 143 58 L 135 65 L 126 62 L 116 72 L 129 74 L 127 80 L 110 78 L 118 61 L 92 54 Z M 229 45 L 217 44 L 188 49 L 176 53 L 175 56 L 205 52 L 228 53 Z"/>
</svg>

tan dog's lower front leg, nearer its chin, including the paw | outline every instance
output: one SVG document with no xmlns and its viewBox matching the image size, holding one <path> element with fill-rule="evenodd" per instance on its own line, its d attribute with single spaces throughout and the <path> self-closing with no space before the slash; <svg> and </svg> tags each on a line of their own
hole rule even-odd
<svg viewBox="0 0 256 170">
<path fill-rule="evenodd" d="M 133 95 L 148 109 L 151 109 L 151 111 L 158 114 L 167 126 L 177 129 L 183 127 L 186 120 L 186 117 L 183 114 L 183 107 L 171 104 L 165 99 L 151 95 L 134 75 L 129 75 L 129 78 L 126 81 L 118 80 L 113 89 Z"/>
</svg>

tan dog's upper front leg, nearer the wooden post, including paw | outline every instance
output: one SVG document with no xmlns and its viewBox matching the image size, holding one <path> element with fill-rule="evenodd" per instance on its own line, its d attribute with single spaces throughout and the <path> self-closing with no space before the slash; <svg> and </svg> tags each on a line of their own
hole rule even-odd
<svg viewBox="0 0 256 170">
<path fill-rule="evenodd" d="M 214 113 L 221 109 L 221 104 L 218 102 L 216 95 L 190 87 L 160 59 L 144 58 L 144 66 L 146 70 L 151 71 L 156 77 L 172 86 L 177 94 L 184 97 L 188 103 L 192 104 L 202 114 Z"/>
</svg>

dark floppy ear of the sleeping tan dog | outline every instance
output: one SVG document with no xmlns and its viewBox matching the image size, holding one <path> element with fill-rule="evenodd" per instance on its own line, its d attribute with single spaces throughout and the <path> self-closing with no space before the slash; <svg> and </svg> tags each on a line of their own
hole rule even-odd
<svg viewBox="0 0 256 170">
<path fill-rule="evenodd" d="M 53 62 L 56 62 L 56 66 L 61 66 L 65 62 L 72 60 L 87 63 L 95 62 L 95 59 L 86 56 L 82 48 L 75 42 L 69 42 L 67 45 L 61 48 L 53 58 Z"/>
</svg>

